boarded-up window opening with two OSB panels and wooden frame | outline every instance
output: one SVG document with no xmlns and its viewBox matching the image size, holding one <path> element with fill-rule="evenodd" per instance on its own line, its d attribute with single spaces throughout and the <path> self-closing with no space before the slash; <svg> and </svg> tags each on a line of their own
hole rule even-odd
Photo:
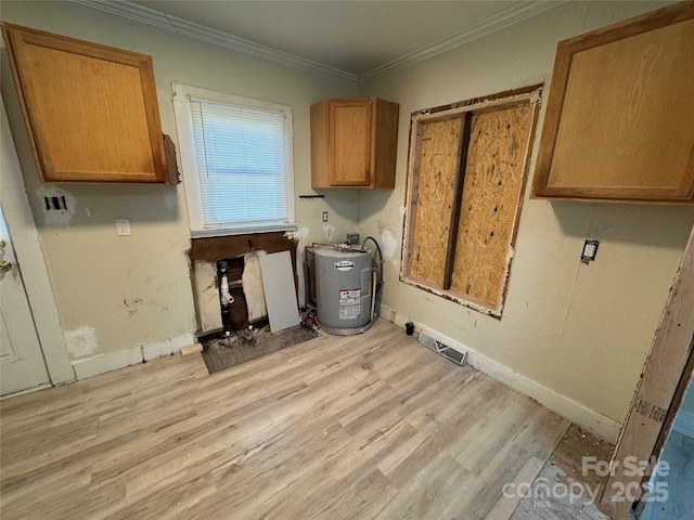
<svg viewBox="0 0 694 520">
<path fill-rule="evenodd" d="M 501 315 L 540 91 L 412 115 L 403 282 Z"/>
</svg>

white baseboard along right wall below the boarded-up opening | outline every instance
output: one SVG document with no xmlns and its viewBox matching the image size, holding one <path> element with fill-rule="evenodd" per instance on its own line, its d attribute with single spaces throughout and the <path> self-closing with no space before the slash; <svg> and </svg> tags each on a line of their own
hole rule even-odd
<svg viewBox="0 0 694 520">
<path fill-rule="evenodd" d="M 384 320 L 393 322 L 399 327 L 404 328 L 407 322 L 413 322 L 415 328 L 425 330 L 432 338 L 441 341 L 442 343 L 451 347 L 460 352 L 467 352 L 467 364 L 477 368 L 479 372 L 488 374 L 498 381 L 505 386 L 523 393 L 531 399 L 535 399 L 542 406 L 551 410 L 555 414 L 561 415 L 567 420 L 578 425 L 580 428 L 588 430 L 597 437 L 606 440 L 607 442 L 615 444 L 619 437 L 621 425 L 616 420 L 605 417 L 599 414 L 594 410 L 580 404 L 566 395 L 552 390 L 538 381 L 530 379 L 523 374 L 515 372 L 513 368 L 492 360 L 491 358 L 471 349 L 470 347 L 462 344 L 452 338 L 449 338 L 436 330 L 430 329 L 422 323 L 417 323 L 393 309 L 388 306 L 381 304 L 380 316 Z"/>
</svg>

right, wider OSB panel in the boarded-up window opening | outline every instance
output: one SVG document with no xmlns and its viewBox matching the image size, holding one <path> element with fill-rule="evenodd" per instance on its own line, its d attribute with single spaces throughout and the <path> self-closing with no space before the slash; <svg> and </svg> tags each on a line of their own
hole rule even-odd
<svg viewBox="0 0 694 520">
<path fill-rule="evenodd" d="M 530 105 L 475 114 L 451 288 L 498 307 L 532 128 Z"/>
</svg>

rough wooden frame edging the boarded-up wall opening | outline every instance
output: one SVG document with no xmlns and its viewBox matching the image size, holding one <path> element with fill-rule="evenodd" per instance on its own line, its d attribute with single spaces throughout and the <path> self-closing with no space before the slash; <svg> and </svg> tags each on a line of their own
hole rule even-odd
<svg viewBox="0 0 694 520">
<path fill-rule="evenodd" d="M 468 307 L 476 311 L 479 311 L 484 314 L 489 314 L 496 317 L 500 317 L 503 304 L 505 300 L 505 292 L 507 289 L 509 274 L 511 271 L 511 261 L 514 256 L 514 245 L 515 245 L 515 236 L 518 229 L 518 221 L 520 217 L 520 209 L 523 206 L 523 200 L 525 196 L 526 182 L 529 176 L 529 167 L 530 167 L 530 157 L 532 154 L 532 145 L 535 140 L 535 129 L 538 119 L 540 99 L 542 93 L 542 84 L 535 84 L 531 87 L 526 87 L 523 89 L 517 89 L 513 91 L 501 92 L 499 94 L 493 94 L 480 99 L 467 100 L 459 103 L 453 103 L 447 106 L 438 106 L 434 108 L 417 110 L 411 114 L 411 126 L 410 126 L 410 143 L 408 151 L 408 177 L 407 177 L 407 186 L 404 194 L 404 219 L 403 219 L 403 230 L 402 230 L 402 257 L 400 262 L 400 281 L 417 287 L 420 289 L 426 290 L 434 295 L 440 296 L 448 300 L 454 301 L 462 306 Z M 444 286 L 439 286 L 433 283 L 429 280 L 422 278 L 412 274 L 412 255 L 413 248 L 415 246 L 415 226 L 416 226 L 416 205 L 417 205 L 417 194 L 419 194 L 419 179 L 420 179 L 420 154 L 421 154 L 421 139 L 422 139 L 422 125 L 427 122 L 434 122 L 445 119 L 460 118 L 465 119 L 468 115 L 475 113 L 484 113 L 488 110 L 510 108 L 513 106 L 520 105 L 530 105 L 531 107 L 531 123 L 528 135 L 527 148 L 525 154 L 525 160 L 523 165 L 522 172 L 522 185 L 519 190 L 519 199 L 517 206 L 515 208 L 515 213 L 513 216 L 513 223 L 510 234 L 510 240 L 506 247 L 506 259 L 505 259 L 505 268 L 503 273 L 503 281 L 501 287 L 501 294 L 499 298 L 499 302 L 497 306 L 489 306 L 487 302 L 475 298 L 470 295 L 462 294 L 460 291 L 453 290 L 451 288 L 444 288 L 446 284 L 446 278 L 444 281 Z M 459 144 L 460 146 L 460 144 Z M 460 150 L 459 150 L 459 158 L 460 158 Z M 460 180 L 461 172 L 455 172 L 455 182 L 458 183 Z M 464 169 L 462 174 L 464 176 Z M 464 181 L 463 181 L 464 182 Z M 455 186 L 455 190 L 460 190 L 459 197 L 462 197 L 462 188 L 463 186 Z M 454 212 L 455 209 L 452 208 L 451 212 Z M 451 242 L 451 236 L 449 234 L 449 244 L 447 246 L 446 256 L 449 256 L 449 247 Z M 448 263 L 448 258 L 447 258 Z"/>
</svg>

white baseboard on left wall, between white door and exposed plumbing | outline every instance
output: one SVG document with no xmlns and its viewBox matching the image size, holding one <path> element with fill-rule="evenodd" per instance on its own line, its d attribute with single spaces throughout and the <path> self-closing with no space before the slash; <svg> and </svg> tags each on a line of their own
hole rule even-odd
<svg viewBox="0 0 694 520">
<path fill-rule="evenodd" d="M 77 380 L 81 381 L 82 379 L 117 370 L 118 368 L 125 368 L 126 366 L 138 365 L 145 361 L 176 354 L 180 352 L 183 347 L 193 344 L 196 341 L 194 334 L 187 333 L 163 341 L 155 341 L 126 350 L 73 361 L 73 367 L 75 368 Z"/>
</svg>

